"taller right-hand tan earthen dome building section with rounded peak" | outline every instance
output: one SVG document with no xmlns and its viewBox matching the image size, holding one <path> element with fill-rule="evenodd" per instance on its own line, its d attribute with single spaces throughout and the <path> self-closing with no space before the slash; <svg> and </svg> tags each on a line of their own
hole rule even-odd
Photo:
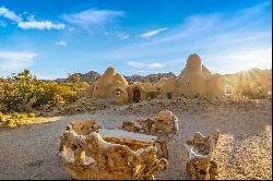
<svg viewBox="0 0 273 181">
<path fill-rule="evenodd" d="M 186 68 L 177 79 L 168 79 L 158 84 L 163 97 L 173 93 L 177 97 L 224 96 L 225 83 L 222 76 L 212 73 L 201 63 L 198 55 L 190 55 Z"/>
</svg>

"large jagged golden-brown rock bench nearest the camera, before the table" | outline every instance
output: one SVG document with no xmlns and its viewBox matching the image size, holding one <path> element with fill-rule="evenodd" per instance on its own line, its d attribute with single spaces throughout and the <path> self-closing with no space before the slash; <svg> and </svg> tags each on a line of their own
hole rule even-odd
<svg viewBox="0 0 273 181">
<path fill-rule="evenodd" d="M 72 179 L 155 179 L 167 168 L 156 158 L 156 147 L 133 152 L 129 146 L 106 142 L 95 120 L 73 121 L 61 135 L 61 164 Z"/>
</svg>

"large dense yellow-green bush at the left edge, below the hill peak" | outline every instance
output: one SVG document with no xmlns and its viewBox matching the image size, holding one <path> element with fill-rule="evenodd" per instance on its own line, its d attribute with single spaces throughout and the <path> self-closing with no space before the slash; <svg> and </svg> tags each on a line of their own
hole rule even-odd
<svg viewBox="0 0 273 181">
<path fill-rule="evenodd" d="M 0 111 L 3 112 L 31 112 L 43 105 L 76 99 L 76 92 L 69 85 L 37 81 L 27 70 L 0 86 Z"/>
</svg>

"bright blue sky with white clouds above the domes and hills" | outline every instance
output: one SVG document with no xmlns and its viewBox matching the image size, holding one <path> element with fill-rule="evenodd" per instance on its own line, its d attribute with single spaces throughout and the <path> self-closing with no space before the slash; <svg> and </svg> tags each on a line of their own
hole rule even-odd
<svg viewBox="0 0 273 181">
<path fill-rule="evenodd" d="M 271 0 L 0 0 L 0 76 L 272 68 Z"/>
</svg>

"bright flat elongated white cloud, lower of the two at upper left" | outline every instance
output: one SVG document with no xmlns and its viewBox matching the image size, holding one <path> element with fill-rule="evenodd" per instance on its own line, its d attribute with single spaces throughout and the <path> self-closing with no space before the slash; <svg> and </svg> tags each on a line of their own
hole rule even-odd
<svg viewBox="0 0 273 181">
<path fill-rule="evenodd" d="M 19 22 L 19 27 L 23 29 L 36 28 L 36 29 L 63 29 L 66 27 L 64 24 L 54 24 L 50 21 L 29 21 L 29 22 Z"/>
</svg>

